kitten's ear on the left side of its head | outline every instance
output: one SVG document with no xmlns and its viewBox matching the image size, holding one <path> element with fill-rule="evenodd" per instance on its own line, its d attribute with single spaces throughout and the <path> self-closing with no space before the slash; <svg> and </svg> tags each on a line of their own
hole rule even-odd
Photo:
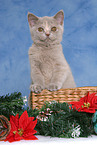
<svg viewBox="0 0 97 145">
<path fill-rule="evenodd" d="M 36 24 L 36 21 L 38 20 L 38 17 L 33 15 L 32 13 L 28 12 L 28 22 L 31 27 L 33 27 Z"/>
</svg>

